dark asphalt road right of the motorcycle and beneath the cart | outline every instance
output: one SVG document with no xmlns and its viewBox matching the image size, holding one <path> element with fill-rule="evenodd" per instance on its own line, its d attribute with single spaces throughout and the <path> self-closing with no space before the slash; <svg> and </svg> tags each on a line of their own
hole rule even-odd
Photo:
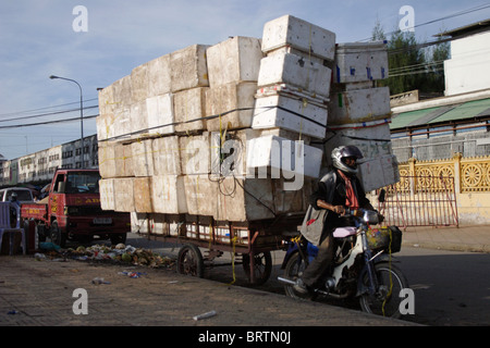
<svg viewBox="0 0 490 348">
<path fill-rule="evenodd" d="M 176 257 L 180 248 L 134 234 L 128 235 L 127 244 L 151 248 L 170 257 Z M 283 286 L 277 281 L 282 275 L 280 264 L 283 256 L 283 251 L 272 252 L 272 275 L 257 289 L 284 294 Z M 406 315 L 404 320 L 425 325 L 490 325 L 490 254 L 404 248 L 395 258 L 415 294 L 415 314 Z M 224 253 L 215 263 L 219 265 L 230 261 L 230 254 Z M 235 265 L 234 275 L 235 285 L 249 286 L 242 265 Z M 231 283 L 233 268 L 224 265 L 207 269 L 205 277 Z M 352 300 L 328 300 L 328 303 L 360 310 L 357 302 Z"/>
</svg>

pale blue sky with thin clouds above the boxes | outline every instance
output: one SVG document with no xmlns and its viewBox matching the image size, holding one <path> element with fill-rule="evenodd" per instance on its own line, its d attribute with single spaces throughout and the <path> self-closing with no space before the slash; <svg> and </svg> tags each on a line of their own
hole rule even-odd
<svg viewBox="0 0 490 348">
<path fill-rule="evenodd" d="M 12 160 L 79 139 L 79 89 L 50 75 L 82 86 L 84 117 L 89 117 L 98 114 L 97 88 L 181 48 L 216 45 L 229 36 L 261 38 L 264 25 L 285 14 L 334 32 L 336 42 L 362 41 L 377 21 L 385 33 L 407 24 L 412 16 L 400 13 L 406 5 L 419 41 L 490 18 L 490 1 L 3 0 L 0 154 Z M 84 135 L 96 133 L 95 117 L 85 120 Z"/>
</svg>

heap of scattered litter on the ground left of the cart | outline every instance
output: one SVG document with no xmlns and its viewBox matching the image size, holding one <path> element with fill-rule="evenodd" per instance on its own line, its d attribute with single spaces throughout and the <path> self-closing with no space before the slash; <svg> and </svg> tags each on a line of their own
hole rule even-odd
<svg viewBox="0 0 490 348">
<path fill-rule="evenodd" d="M 119 244 L 115 247 L 105 245 L 94 245 L 90 247 L 79 246 L 76 249 L 49 248 L 49 245 L 47 245 L 44 249 L 47 252 L 36 253 L 36 260 L 49 259 L 51 261 L 65 261 L 66 259 L 73 259 L 79 261 L 112 261 L 150 268 L 164 268 L 173 264 L 173 260 L 169 257 L 124 244 Z"/>
</svg>

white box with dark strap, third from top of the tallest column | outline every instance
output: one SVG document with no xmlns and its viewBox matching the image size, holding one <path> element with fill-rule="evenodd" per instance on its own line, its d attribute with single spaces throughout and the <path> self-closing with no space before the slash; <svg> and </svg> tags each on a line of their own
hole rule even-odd
<svg viewBox="0 0 490 348">
<path fill-rule="evenodd" d="M 326 108 L 298 98 L 281 95 L 257 98 L 252 127 L 279 127 L 322 139 L 327 128 L 327 113 Z"/>
</svg>

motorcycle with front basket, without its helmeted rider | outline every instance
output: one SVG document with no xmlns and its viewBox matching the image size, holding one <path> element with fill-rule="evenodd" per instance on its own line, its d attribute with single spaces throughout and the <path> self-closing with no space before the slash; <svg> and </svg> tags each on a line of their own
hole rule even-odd
<svg viewBox="0 0 490 348">
<path fill-rule="evenodd" d="M 384 201 L 384 191 L 380 201 Z M 307 264 L 318 253 L 318 248 L 301 235 L 287 243 L 282 263 L 284 276 L 278 281 L 284 284 L 287 296 L 295 299 L 318 297 L 346 299 L 357 297 L 364 312 L 400 318 L 400 297 L 408 282 L 393 263 L 392 254 L 401 250 L 402 232 L 396 226 L 370 228 L 382 219 L 377 211 L 359 209 L 347 211 L 353 226 L 339 227 L 333 232 L 335 256 L 333 272 L 323 275 L 321 286 L 304 295 L 294 289 Z"/>
</svg>

